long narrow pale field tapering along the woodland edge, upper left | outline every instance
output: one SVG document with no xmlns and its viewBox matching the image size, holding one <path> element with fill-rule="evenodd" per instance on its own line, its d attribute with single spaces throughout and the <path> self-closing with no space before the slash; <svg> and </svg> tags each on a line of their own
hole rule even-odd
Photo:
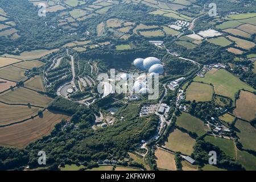
<svg viewBox="0 0 256 182">
<path fill-rule="evenodd" d="M 35 51 L 24 51 L 24 52 L 20 53 L 20 55 L 10 55 L 10 54 L 6 53 L 2 56 L 14 57 L 14 58 L 21 59 L 21 60 L 35 60 L 40 57 L 46 56 L 49 53 L 57 52 L 57 51 L 59 51 L 59 49 L 51 49 L 51 50 L 38 49 Z"/>
</svg>

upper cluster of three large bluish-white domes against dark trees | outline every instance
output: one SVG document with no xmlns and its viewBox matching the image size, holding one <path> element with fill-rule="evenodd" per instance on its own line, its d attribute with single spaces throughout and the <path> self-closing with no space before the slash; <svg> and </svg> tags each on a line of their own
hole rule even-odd
<svg viewBox="0 0 256 182">
<path fill-rule="evenodd" d="M 147 57 L 146 59 L 138 58 L 133 61 L 135 67 L 146 70 L 148 73 L 162 75 L 164 68 L 161 61 L 156 57 Z"/>
</svg>

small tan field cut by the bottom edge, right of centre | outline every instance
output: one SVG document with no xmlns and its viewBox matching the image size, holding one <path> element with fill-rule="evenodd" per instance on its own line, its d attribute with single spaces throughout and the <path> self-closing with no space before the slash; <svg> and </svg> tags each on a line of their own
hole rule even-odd
<svg viewBox="0 0 256 182">
<path fill-rule="evenodd" d="M 176 171 L 175 156 L 170 152 L 164 151 L 161 148 L 157 148 L 155 151 L 156 165 L 161 169 L 168 169 Z"/>
</svg>

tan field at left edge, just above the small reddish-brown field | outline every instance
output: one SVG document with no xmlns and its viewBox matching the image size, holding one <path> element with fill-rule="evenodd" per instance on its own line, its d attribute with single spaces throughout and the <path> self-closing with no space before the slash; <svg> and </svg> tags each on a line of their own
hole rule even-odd
<svg viewBox="0 0 256 182">
<path fill-rule="evenodd" d="M 27 77 L 24 76 L 25 72 L 26 72 L 25 69 L 9 66 L 9 67 L 0 69 L 0 77 L 5 78 L 7 80 L 19 82 L 19 81 L 26 80 Z"/>
</svg>

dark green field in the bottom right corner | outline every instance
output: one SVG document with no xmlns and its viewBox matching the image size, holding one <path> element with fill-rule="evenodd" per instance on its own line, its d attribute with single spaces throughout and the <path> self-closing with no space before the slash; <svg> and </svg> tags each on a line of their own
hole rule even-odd
<svg viewBox="0 0 256 182">
<path fill-rule="evenodd" d="M 237 150 L 237 160 L 247 171 L 256 170 L 256 157 L 246 151 Z"/>
</svg>

